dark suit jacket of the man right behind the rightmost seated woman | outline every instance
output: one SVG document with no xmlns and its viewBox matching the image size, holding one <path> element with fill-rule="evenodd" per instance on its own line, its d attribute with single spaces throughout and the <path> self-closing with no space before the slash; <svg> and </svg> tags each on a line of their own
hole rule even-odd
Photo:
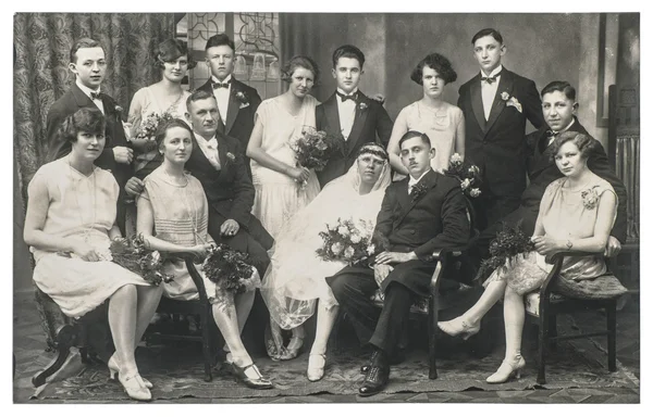
<svg viewBox="0 0 653 417">
<path fill-rule="evenodd" d="M 521 205 L 528 208 L 525 213 L 526 216 L 534 217 L 525 219 L 525 222 L 528 222 L 529 224 L 532 222 L 533 225 L 540 211 L 540 202 L 542 201 L 544 190 L 551 182 L 563 177 L 563 173 L 557 168 L 555 162 L 551 160 L 553 147 L 547 146 L 549 138 L 546 130 L 547 127 L 542 127 L 527 136 L 527 149 L 529 155 L 528 176 L 530 184 L 521 194 Z M 578 131 L 591 137 L 576 117 L 574 118 L 574 124 L 567 130 Z M 611 168 L 607 155 L 601 143 L 597 142 L 596 144 L 597 147 L 595 147 L 595 150 L 590 153 L 588 157 L 588 167 L 592 173 L 605 179 L 613 186 L 617 198 L 619 199 L 619 205 L 617 206 L 617 218 L 613 226 L 612 236 L 619 239 L 620 242 L 626 242 L 626 187 Z"/>
</svg>

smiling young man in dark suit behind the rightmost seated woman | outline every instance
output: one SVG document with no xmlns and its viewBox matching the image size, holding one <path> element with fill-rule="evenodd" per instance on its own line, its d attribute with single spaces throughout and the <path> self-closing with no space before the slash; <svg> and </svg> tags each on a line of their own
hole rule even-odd
<svg viewBox="0 0 653 417">
<path fill-rule="evenodd" d="M 552 155 L 551 143 L 553 143 L 553 140 L 558 135 L 565 131 L 577 131 L 591 137 L 587 129 L 578 122 L 576 117 L 577 110 L 576 89 L 569 83 L 553 81 L 542 89 L 542 113 L 546 121 L 546 126 L 533 131 L 526 138 L 530 184 L 521 193 L 521 204 L 519 207 L 503 217 L 501 222 L 516 225 L 521 220 L 523 231 L 529 236 L 532 235 L 544 190 L 551 182 L 563 177 L 563 174 L 553 160 L 554 155 Z M 621 249 L 621 242 L 626 241 L 626 187 L 611 168 L 607 155 L 602 146 L 595 147 L 595 151 L 589 155 L 588 167 L 613 186 L 619 200 L 617 218 L 605 249 L 605 254 L 613 256 Z M 491 225 L 481 232 L 477 243 L 480 257 L 489 256 L 488 248 L 492 239 L 501 230 L 501 222 Z"/>
</svg>

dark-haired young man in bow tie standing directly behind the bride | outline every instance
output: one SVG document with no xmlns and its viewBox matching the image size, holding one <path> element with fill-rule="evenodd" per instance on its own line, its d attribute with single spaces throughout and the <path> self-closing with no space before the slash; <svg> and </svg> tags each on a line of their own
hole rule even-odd
<svg viewBox="0 0 653 417">
<path fill-rule="evenodd" d="M 377 141 L 386 148 L 392 134 L 392 119 L 383 104 L 358 89 L 365 64 L 365 55 L 360 49 L 344 45 L 333 51 L 332 61 L 331 73 L 337 88 L 326 101 L 316 108 L 316 124 L 318 130 L 342 135 L 345 147 L 341 155 L 329 161 L 317 173 L 320 187 L 344 175 L 356 161 L 356 154 L 364 143 Z"/>
</svg>

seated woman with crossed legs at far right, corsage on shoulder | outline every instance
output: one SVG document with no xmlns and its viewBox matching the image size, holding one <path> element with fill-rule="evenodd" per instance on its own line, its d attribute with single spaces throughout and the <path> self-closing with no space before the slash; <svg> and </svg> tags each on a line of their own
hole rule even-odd
<svg viewBox="0 0 653 417">
<path fill-rule="evenodd" d="M 486 381 L 506 382 L 519 377 L 526 366 L 521 357 L 521 331 L 525 320 L 523 295 L 542 286 L 552 265 L 544 256 L 560 251 L 595 252 L 592 257 L 565 257 L 560 279 L 554 291 L 572 298 L 601 299 L 621 295 L 626 289 L 607 270 L 603 252 L 616 217 L 617 195 L 609 182 L 587 166 L 588 155 L 596 141 L 568 131 L 553 144 L 558 169 L 565 175 L 551 182 L 542 197 L 535 231 L 531 238 L 535 252 L 518 256 L 507 273 L 495 270 L 485 281 L 479 301 L 461 316 L 438 324 L 451 336 L 465 339 L 477 333 L 481 318 L 503 296 L 506 355 L 498 370 Z"/>
</svg>

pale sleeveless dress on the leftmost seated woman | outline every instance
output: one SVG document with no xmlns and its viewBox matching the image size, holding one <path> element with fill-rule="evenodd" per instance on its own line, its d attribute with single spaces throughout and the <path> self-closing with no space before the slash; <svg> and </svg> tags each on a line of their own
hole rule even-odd
<svg viewBox="0 0 653 417">
<path fill-rule="evenodd" d="M 118 191 L 111 173 L 95 167 L 87 177 L 67 157 L 41 166 L 27 187 L 29 200 L 49 200 L 44 232 L 84 239 L 100 255 L 99 262 L 87 262 L 74 253 L 29 248 L 36 263 L 34 282 L 69 317 L 84 316 L 123 286 L 149 286 L 111 262 L 109 230 L 115 223 Z"/>
</svg>

